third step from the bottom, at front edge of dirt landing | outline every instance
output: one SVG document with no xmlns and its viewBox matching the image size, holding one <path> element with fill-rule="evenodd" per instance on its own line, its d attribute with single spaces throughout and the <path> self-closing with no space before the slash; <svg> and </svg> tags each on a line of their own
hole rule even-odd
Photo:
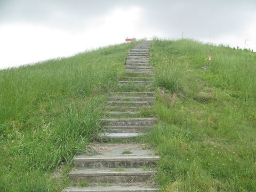
<svg viewBox="0 0 256 192">
<path fill-rule="evenodd" d="M 140 149 L 142 150 L 142 149 Z M 129 150 L 131 151 L 131 150 Z M 158 155 L 139 154 L 100 154 L 100 155 L 77 155 L 74 164 L 82 168 L 139 168 L 142 166 L 152 167 L 160 159 Z"/>
</svg>

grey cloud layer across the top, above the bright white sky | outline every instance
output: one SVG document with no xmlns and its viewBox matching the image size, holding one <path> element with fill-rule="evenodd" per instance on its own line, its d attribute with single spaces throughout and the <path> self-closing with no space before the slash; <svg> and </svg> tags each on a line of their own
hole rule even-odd
<svg viewBox="0 0 256 192">
<path fill-rule="evenodd" d="M 204 38 L 239 34 L 255 15 L 256 1 L 1 1 L 0 23 L 32 22 L 65 30 L 82 29 L 121 6 L 140 6 L 141 27 L 158 29 L 174 37 Z"/>
</svg>

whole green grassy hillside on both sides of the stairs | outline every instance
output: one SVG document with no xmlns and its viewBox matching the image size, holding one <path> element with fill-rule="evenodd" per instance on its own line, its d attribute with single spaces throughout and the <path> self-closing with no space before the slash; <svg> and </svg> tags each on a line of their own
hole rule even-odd
<svg viewBox="0 0 256 192">
<path fill-rule="evenodd" d="M 60 191 L 99 131 L 134 43 L 0 71 L 0 189 Z M 256 54 L 189 40 L 151 45 L 166 191 L 256 191 Z M 207 66 L 206 70 L 202 66 Z M 172 95 L 177 94 L 174 105 Z M 139 140 L 140 141 L 140 140 Z"/>
</svg>

